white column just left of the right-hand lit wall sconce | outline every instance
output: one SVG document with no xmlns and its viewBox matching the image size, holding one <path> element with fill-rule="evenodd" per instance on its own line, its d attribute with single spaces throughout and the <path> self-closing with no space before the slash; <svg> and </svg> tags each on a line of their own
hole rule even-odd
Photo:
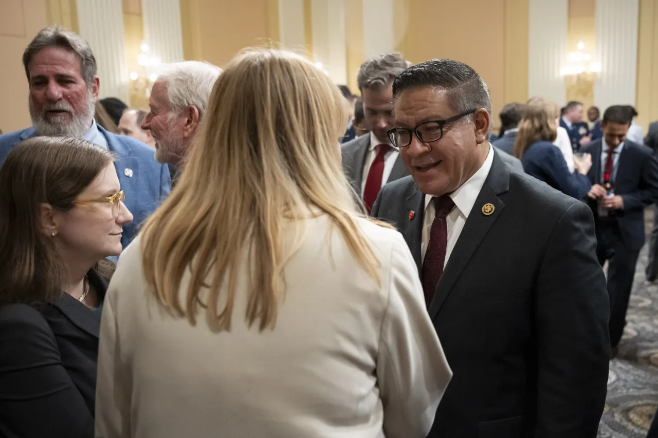
<svg viewBox="0 0 658 438">
<path fill-rule="evenodd" d="M 564 105 L 569 2 L 529 0 L 528 6 L 528 97 Z"/>
</svg>

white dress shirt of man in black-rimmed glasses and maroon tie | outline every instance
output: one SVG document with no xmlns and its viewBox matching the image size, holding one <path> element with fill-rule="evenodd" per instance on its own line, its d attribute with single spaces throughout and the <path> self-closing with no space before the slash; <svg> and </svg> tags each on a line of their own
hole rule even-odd
<svg viewBox="0 0 658 438">
<path fill-rule="evenodd" d="M 443 267 L 448 262 L 450 254 L 452 253 L 453 248 L 455 248 L 455 243 L 459 239 L 461 230 L 464 229 L 466 220 L 468 219 L 468 214 L 470 210 L 473 209 L 476 199 L 482 190 L 482 185 L 487 179 L 489 171 L 492 168 L 493 163 L 493 147 L 489 146 L 489 154 L 484 160 L 482 167 L 478 169 L 477 172 L 473 174 L 468 180 L 460 185 L 457 190 L 450 193 L 450 198 L 455 203 L 453 210 L 446 216 L 445 222 L 448 231 L 448 241 L 445 248 L 445 259 L 443 261 Z M 425 195 L 425 214 L 422 221 L 422 258 L 425 258 L 425 251 L 427 250 L 427 245 L 430 243 L 430 229 L 432 228 L 432 222 L 436 218 L 436 210 L 434 209 L 434 203 L 432 203 L 432 195 Z"/>
</svg>

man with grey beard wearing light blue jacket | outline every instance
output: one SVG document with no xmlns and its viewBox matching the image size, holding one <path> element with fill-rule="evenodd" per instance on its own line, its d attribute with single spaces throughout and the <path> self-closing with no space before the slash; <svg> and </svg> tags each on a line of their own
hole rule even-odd
<svg viewBox="0 0 658 438">
<path fill-rule="evenodd" d="M 153 158 L 153 149 L 123 135 L 107 132 L 93 119 L 98 98 L 96 60 L 82 37 L 51 26 L 39 32 L 23 53 L 30 87 L 32 127 L 0 135 L 0 165 L 18 143 L 37 135 L 70 135 L 96 143 L 116 155 L 114 166 L 125 205 L 134 221 L 125 224 L 124 247 L 139 225 L 170 190 L 168 168 Z"/>
</svg>

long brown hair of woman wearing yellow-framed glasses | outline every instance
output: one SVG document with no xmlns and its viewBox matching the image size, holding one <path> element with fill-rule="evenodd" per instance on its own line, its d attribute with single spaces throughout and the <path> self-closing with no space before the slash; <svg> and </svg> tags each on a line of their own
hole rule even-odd
<svg viewBox="0 0 658 438">
<path fill-rule="evenodd" d="M 70 210 L 113 160 L 72 137 L 34 137 L 9 153 L 0 168 L 0 303 L 43 303 L 60 293 L 66 266 L 41 231 L 40 206 Z"/>
</svg>

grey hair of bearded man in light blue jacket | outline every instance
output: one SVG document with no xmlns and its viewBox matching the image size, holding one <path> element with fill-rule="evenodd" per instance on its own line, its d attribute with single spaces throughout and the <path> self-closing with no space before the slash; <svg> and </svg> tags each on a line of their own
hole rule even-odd
<svg viewBox="0 0 658 438">
<path fill-rule="evenodd" d="M 93 85 L 93 80 L 96 77 L 96 59 L 93 57 L 89 43 L 83 37 L 74 32 L 69 32 L 61 26 L 49 26 L 41 29 L 23 52 L 23 66 L 25 67 L 25 74 L 28 76 L 28 82 L 30 82 L 30 62 L 32 62 L 32 58 L 39 51 L 48 47 L 62 47 L 78 55 L 78 58 L 80 58 L 80 74 L 82 74 L 87 87 Z"/>
</svg>

